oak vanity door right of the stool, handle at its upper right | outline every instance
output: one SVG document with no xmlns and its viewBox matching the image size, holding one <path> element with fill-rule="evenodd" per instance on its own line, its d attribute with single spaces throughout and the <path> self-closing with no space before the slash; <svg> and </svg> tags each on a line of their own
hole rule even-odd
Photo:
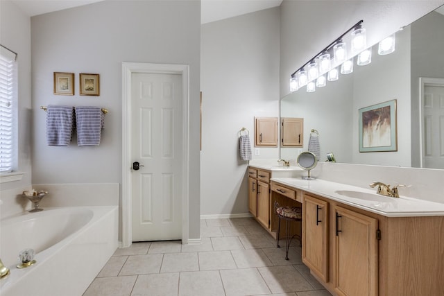
<svg viewBox="0 0 444 296">
<path fill-rule="evenodd" d="M 302 262 L 328 282 L 328 202 L 304 195 Z"/>
</svg>

